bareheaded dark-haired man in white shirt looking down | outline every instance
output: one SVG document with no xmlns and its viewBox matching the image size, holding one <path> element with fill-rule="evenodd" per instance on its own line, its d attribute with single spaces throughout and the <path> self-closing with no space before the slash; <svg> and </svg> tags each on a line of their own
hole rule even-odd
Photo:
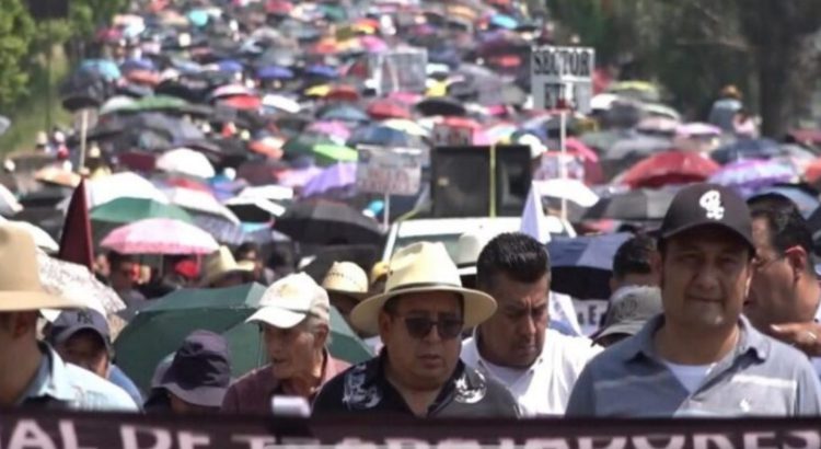
<svg viewBox="0 0 821 449">
<path fill-rule="evenodd" d="M 524 415 L 562 415 L 585 365 L 601 348 L 547 329 L 551 263 L 545 246 L 505 233 L 482 250 L 477 286 L 499 304 L 462 346 L 462 359 L 497 379 Z"/>
</svg>

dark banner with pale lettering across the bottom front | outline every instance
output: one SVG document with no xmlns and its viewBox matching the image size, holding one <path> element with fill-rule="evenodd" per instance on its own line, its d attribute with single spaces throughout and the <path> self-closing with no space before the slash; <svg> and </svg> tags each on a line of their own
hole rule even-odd
<svg viewBox="0 0 821 449">
<path fill-rule="evenodd" d="M 2 449 L 273 448 L 818 448 L 810 418 L 728 419 L 333 419 L 11 411 Z"/>
</svg>

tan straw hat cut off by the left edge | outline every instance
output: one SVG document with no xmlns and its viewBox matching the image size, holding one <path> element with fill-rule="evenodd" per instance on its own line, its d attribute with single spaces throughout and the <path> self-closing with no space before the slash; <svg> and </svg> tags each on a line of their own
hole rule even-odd
<svg viewBox="0 0 821 449">
<path fill-rule="evenodd" d="M 43 289 L 34 239 L 24 229 L 0 225 L 0 263 L 14 267 L 0 269 L 0 312 L 83 307 Z"/>
</svg>

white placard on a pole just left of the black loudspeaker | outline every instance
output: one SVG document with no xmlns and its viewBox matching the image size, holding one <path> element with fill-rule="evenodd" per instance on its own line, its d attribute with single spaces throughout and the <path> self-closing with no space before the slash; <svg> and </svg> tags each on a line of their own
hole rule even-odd
<svg viewBox="0 0 821 449">
<path fill-rule="evenodd" d="M 359 146 L 357 188 L 386 195 L 416 195 L 421 187 L 421 150 Z"/>
</svg>

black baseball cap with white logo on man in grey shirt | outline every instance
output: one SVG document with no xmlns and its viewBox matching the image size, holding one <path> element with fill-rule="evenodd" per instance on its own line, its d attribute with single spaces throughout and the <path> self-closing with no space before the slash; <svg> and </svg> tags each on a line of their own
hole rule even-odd
<svg viewBox="0 0 821 449">
<path fill-rule="evenodd" d="M 744 198 L 732 188 L 698 183 L 679 191 L 661 222 L 659 240 L 703 226 L 717 226 L 733 232 L 755 253 L 750 209 Z"/>
</svg>

